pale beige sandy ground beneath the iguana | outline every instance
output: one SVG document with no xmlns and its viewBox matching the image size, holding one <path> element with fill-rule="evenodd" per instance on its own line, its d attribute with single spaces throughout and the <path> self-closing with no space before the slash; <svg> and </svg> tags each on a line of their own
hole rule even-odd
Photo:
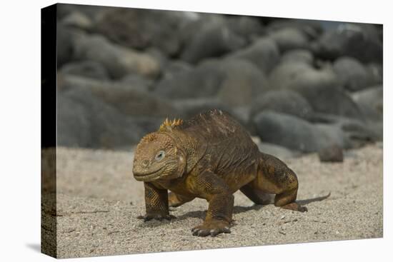
<svg viewBox="0 0 393 262">
<path fill-rule="evenodd" d="M 316 154 L 283 159 L 309 211 L 254 206 L 237 192 L 232 233 L 214 238 L 191 235 L 207 209 L 202 199 L 172 208 L 173 221 L 137 219 L 144 191 L 132 159 L 131 151 L 58 149 L 59 258 L 382 237 L 382 143 L 347 151 L 344 163 L 320 163 Z"/>
</svg>

